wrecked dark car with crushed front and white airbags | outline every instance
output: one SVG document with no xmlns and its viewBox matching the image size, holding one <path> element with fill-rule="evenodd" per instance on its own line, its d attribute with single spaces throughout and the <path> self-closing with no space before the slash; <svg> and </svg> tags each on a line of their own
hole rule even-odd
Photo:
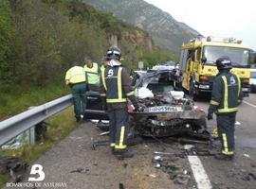
<svg viewBox="0 0 256 189">
<path fill-rule="evenodd" d="M 175 91 L 175 72 L 170 70 L 136 72 L 133 86 L 140 112 L 129 112 L 131 128 L 144 136 L 174 136 L 181 133 L 200 133 L 206 125 L 206 113 L 194 106 L 192 99 Z M 87 93 L 88 119 L 107 119 L 101 110 L 101 97 L 97 92 Z"/>
</svg>

